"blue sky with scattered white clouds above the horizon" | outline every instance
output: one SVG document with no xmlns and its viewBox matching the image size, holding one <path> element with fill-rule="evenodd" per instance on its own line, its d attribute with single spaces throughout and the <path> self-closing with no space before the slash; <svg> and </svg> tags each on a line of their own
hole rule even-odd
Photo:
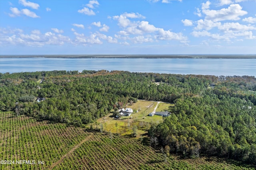
<svg viewBox="0 0 256 170">
<path fill-rule="evenodd" d="M 0 0 L 0 55 L 255 54 L 256 0 Z"/>
</svg>

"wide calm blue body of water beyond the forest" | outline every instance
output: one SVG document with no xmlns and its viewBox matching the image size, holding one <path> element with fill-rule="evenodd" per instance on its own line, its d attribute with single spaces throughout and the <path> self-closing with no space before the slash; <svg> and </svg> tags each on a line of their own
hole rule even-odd
<svg viewBox="0 0 256 170">
<path fill-rule="evenodd" d="M 0 72 L 125 70 L 168 74 L 256 76 L 256 59 L 0 58 Z"/>
</svg>

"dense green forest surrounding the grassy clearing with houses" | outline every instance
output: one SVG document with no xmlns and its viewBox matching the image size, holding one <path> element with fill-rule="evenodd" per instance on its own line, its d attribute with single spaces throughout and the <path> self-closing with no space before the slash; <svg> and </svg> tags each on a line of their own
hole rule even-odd
<svg viewBox="0 0 256 170">
<path fill-rule="evenodd" d="M 152 146 L 184 157 L 217 155 L 256 164 L 253 76 L 106 70 L 0 73 L 0 109 L 14 116 L 84 126 L 137 99 L 175 104 L 174 113 L 148 130 Z"/>
</svg>

